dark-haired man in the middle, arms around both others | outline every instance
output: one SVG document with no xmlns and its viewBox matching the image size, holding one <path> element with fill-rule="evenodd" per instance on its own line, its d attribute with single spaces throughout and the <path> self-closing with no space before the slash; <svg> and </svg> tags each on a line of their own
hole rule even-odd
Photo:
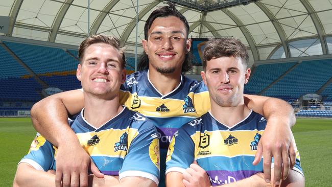
<svg viewBox="0 0 332 187">
<path fill-rule="evenodd" d="M 204 83 L 183 75 L 191 68 L 191 39 L 188 39 L 186 19 L 173 4 L 169 3 L 168 6 L 160 7 L 151 13 L 146 22 L 145 39 L 142 44 L 145 55 L 139 67 L 144 70 L 127 76 L 125 84 L 121 87 L 120 103 L 154 121 L 160 139 L 162 185 L 164 160 L 173 133 L 182 124 L 206 113 L 210 108 L 209 97 Z M 268 125 L 271 130 L 266 132 L 270 133 L 267 136 L 269 138 L 262 137 L 262 145 L 255 162 L 259 162 L 264 150 L 266 157 L 274 156 L 274 159 L 280 161 L 280 166 L 276 167 L 276 178 L 280 178 L 281 174 L 287 176 L 289 149 L 293 149 L 289 127 L 295 123 L 293 108 L 286 102 L 274 98 L 246 95 L 245 100 L 248 107 L 254 111 L 262 114 L 264 112 L 271 124 Z M 74 133 L 65 121 L 67 112 L 74 114 L 83 108 L 82 101 L 82 91 L 72 90 L 43 99 L 35 104 L 31 111 L 35 128 L 59 147 L 57 184 L 60 184 L 62 176 L 63 180 L 84 181 L 80 175 L 86 173 L 89 166 L 89 159 L 81 151 Z M 274 131 L 279 131 L 278 136 L 273 134 Z M 72 144 L 68 145 L 68 141 L 63 139 L 70 139 Z M 279 144 L 283 145 L 282 149 L 278 147 Z M 83 164 L 75 163 L 75 157 L 83 160 Z M 283 172 L 282 160 L 285 168 Z M 269 164 L 271 162 L 267 163 Z M 269 177 L 267 173 L 267 179 Z"/>
</svg>

